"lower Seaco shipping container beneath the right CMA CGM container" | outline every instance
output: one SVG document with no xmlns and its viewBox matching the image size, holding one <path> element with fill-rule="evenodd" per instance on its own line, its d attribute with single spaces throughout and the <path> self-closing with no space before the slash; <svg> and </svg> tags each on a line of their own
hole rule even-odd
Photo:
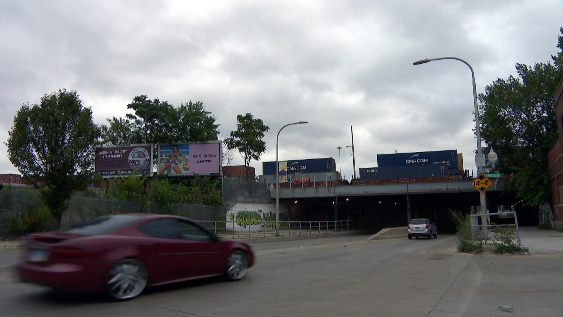
<svg viewBox="0 0 563 317">
<path fill-rule="evenodd" d="M 447 165 L 407 165 L 360 168 L 360 179 L 431 177 L 448 174 Z"/>
</svg>

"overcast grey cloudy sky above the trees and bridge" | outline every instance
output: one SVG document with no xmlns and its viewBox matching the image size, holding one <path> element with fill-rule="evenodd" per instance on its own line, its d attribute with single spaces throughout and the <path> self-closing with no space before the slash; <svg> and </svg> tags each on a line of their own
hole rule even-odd
<svg viewBox="0 0 563 317">
<path fill-rule="evenodd" d="M 26 102 L 77 90 L 97 124 L 136 95 L 201 100 L 227 133 L 236 115 L 270 127 L 263 161 L 334 157 L 350 179 L 378 153 L 457 149 L 475 168 L 477 93 L 556 54 L 561 0 L 0 0 L 0 140 Z M 0 174 L 19 173 L 0 145 Z M 485 144 L 484 144 L 485 146 Z M 237 154 L 237 162 L 242 158 Z M 257 173 L 261 162 L 252 161 Z"/>
</svg>

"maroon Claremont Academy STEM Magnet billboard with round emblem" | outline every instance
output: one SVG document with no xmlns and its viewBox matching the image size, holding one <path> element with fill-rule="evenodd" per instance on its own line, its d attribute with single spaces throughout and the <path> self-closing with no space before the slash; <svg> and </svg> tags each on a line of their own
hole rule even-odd
<svg viewBox="0 0 563 317">
<path fill-rule="evenodd" d="M 102 147 L 96 151 L 94 170 L 104 178 L 133 173 L 148 175 L 153 171 L 153 146 L 128 144 Z"/>
</svg>

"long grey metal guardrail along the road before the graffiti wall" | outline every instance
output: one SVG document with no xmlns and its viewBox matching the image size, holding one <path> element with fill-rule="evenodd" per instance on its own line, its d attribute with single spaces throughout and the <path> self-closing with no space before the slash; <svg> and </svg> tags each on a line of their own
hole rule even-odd
<svg viewBox="0 0 563 317">
<path fill-rule="evenodd" d="M 233 239 L 236 236 L 262 236 L 275 234 L 275 222 L 266 222 L 273 224 L 272 227 L 267 227 L 265 223 L 262 224 L 248 224 L 246 226 L 239 226 L 237 221 L 214 221 L 214 220 L 199 220 L 195 221 L 200 223 L 209 231 L 213 231 L 219 235 L 230 235 Z M 331 232 L 351 231 L 359 228 L 364 228 L 365 221 L 362 220 L 339 220 L 339 221 L 280 221 L 280 234 L 288 234 L 291 236 L 296 235 L 319 235 L 328 234 Z"/>
</svg>

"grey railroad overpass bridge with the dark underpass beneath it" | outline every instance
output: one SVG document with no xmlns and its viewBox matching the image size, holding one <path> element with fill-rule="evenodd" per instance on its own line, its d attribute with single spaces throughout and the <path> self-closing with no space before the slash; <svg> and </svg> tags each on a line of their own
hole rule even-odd
<svg viewBox="0 0 563 317">
<path fill-rule="evenodd" d="M 441 232 L 455 232 L 450 210 L 469 213 L 471 208 L 480 205 L 479 192 L 471 186 L 471 181 L 334 186 L 330 186 L 330 182 L 319 186 L 318 182 L 314 187 L 280 186 L 280 203 L 291 206 L 291 218 L 301 221 L 361 218 L 368 219 L 371 229 L 376 231 L 384 227 L 406 226 L 408 218 L 430 218 Z M 515 193 L 502 192 L 507 181 L 495 180 L 486 191 L 491 212 L 499 205 L 517 204 Z M 270 197 L 275 200 L 275 190 L 271 191 Z M 534 210 L 519 206 L 516 211 L 521 224 L 535 224 Z"/>
</svg>

